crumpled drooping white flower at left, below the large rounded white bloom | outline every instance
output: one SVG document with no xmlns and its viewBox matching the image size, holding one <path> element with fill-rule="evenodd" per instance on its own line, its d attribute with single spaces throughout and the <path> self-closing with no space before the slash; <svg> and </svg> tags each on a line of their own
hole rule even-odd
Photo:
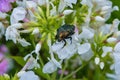
<svg viewBox="0 0 120 80">
<path fill-rule="evenodd" d="M 30 45 L 30 43 L 28 43 L 25 39 L 21 39 L 20 32 L 18 30 L 20 28 L 22 28 L 22 24 L 20 23 L 16 23 L 9 26 L 5 33 L 6 40 L 12 40 L 15 44 L 18 42 L 22 46 Z"/>
</svg>

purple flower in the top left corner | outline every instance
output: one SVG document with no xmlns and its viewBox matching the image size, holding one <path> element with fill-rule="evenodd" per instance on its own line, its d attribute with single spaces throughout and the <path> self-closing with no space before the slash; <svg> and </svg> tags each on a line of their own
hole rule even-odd
<svg viewBox="0 0 120 80">
<path fill-rule="evenodd" d="M 11 2 L 15 0 L 0 0 L 0 11 L 1 12 L 8 12 L 12 9 Z"/>
</svg>

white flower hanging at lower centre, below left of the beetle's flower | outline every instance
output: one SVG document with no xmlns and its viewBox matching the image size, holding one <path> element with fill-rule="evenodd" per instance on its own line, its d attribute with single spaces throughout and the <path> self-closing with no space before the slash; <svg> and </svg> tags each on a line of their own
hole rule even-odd
<svg viewBox="0 0 120 80">
<path fill-rule="evenodd" d="M 58 62 L 56 59 L 52 58 L 51 60 L 49 59 L 49 62 L 44 65 L 43 72 L 52 73 L 56 71 L 57 68 L 62 68 L 61 63 Z"/>
</svg>

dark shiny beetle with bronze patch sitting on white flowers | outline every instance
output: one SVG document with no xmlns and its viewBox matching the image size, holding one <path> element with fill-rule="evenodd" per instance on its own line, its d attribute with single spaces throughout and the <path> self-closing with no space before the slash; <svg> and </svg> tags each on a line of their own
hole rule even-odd
<svg viewBox="0 0 120 80">
<path fill-rule="evenodd" d="M 75 33 L 74 30 L 75 30 L 74 25 L 64 24 L 60 28 L 57 29 L 57 34 L 55 36 L 55 39 L 57 39 L 58 42 L 64 41 L 65 42 L 64 46 L 66 45 L 66 40 L 65 39 L 70 39 L 71 43 L 72 43 L 72 37 L 71 36 Z"/>
</svg>

